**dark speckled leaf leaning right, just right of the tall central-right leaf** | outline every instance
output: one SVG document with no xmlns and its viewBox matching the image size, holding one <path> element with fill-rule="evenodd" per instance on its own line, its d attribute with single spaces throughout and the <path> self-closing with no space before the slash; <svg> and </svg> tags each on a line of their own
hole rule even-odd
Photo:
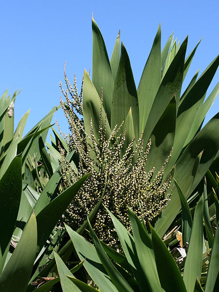
<svg viewBox="0 0 219 292">
<path fill-rule="evenodd" d="M 143 139 L 145 143 L 150 138 L 150 135 L 159 121 L 160 117 L 164 113 L 173 95 L 176 95 L 176 108 L 178 109 L 180 101 L 180 92 L 183 82 L 183 68 L 184 68 L 184 58 L 187 47 L 187 37 L 183 41 L 179 52 L 170 64 L 165 76 L 161 82 L 160 88 L 154 99 L 153 105 L 151 107 L 146 127 L 144 130 Z"/>
</svg>

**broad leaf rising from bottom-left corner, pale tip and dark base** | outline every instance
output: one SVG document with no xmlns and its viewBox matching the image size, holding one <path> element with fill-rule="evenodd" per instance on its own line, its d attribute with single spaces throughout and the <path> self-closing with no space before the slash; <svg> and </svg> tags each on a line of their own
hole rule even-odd
<svg viewBox="0 0 219 292">
<path fill-rule="evenodd" d="M 0 276 L 1 292 L 24 292 L 28 285 L 37 251 L 37 222 L 31 215 L 22 236 Z"/>
</svg>

